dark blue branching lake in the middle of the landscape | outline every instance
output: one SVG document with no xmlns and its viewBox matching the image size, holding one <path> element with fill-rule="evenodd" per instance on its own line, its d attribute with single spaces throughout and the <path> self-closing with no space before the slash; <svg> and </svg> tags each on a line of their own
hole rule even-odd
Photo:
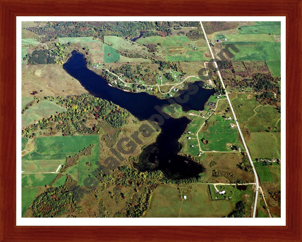
<svg viewBox="0 0 302 242">
<path fill-rule="evenodd" d="M 78 79 L 90 94 L 126 108 L 140 120 L 146 120 L 153 114 L 159 114 L 154 108 L 156 105 L 170 104 L 167 99 L 159 99 L 148 93 L 125 92 L 111 87 L 106 80 L 89 70 L 85 64 L 84 55 L 72 51 L 72 56 L 63 65 L 63 68 L 72 77 Z M 213 89 L 200 87 L 202 86 L 200 85 L 201 82 L 195 82 L 194 84 L 199 84 L 198 91 L 195 94 L 191 94 L 192 90 L 180 94 L 180 98 L 183 98 L 186 94 L 191 94 L 186 103 L 178 103 L 185 111 L 203 110 L 204 104 L 214 93 Z M 160 169 L 171 178 L 189 178 L 203 172 L 204 167 L 202 165 L 178 155 L 181 149 L 178 139 L 185 132 L 189 123 L 190 119 L 186 117 L 165 119 L 160 126 L 161 132 L 156 142 L 143 149 L 138 162 L 134 163 L 134 166 L 140 171 Z"/>
</svg>

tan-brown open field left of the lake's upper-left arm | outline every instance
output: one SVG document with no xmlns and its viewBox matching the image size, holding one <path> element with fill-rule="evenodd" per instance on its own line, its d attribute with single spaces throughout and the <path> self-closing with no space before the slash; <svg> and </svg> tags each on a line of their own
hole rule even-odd
<svg viewBox="0 0 302 242">
<path fill-rule="evenodd" d="M 37 97 L 87 93 L 62 65 L 22 65 L 22 96 L 32 96 L 33 90 L 38 91 Z"/>
</svg>

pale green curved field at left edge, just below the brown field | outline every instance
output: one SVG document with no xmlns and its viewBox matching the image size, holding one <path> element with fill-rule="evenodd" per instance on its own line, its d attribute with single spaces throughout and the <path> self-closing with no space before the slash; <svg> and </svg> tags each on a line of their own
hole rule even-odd
<svg viewBox="0 0 302 242">
<path fill-rule="evenodd" d="M 22 114 L 22 127 L 26 127 L 34 123 L 34 120 L 38 121 L 44 116 L 49 117 L 50 115 L 56 114 L 56 112 L 62 113 L 64 111 L 66 111 L 66 108 L 63 108 L 55 102 L 42 100 L 40 103 L 36 103 L 29 107 L 29 109 Z"/>
</svg>

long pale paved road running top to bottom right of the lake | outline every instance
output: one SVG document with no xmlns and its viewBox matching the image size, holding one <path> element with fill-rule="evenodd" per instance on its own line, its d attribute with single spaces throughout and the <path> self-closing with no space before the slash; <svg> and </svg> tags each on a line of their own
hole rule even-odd
<svg viewBox="0 0 302 242">
<path fill-rule="evenodd" d="M 207 34 L 206 34 L 206 32 L 204 31 L 204 26 L 202 25 L 201 21 L 200 21 L 200 25 L 201 25 L 202 31 L 204 32 L 204 38 L 205 38 L 205 40 L 206 40 L 206 42 L 207 42 L 207 45 L 208 45 L 208 47 L 209 47 L 209 50 L 210 50 L 210 53 L 211 53 L 211 57 L 212 57 L 213 60 L 215 60 L 215 57 L 214 57 L 213 51 L 212 51 L 212 49 L 211 49 L 210 43 L 209 43 L 209 41 L 208 41 L 208 39 L 207 39 Z M 216 70 L 217 70 L 218 76 L 219 76 L 219 78 L 220 78 L 221 84 L 222 84 L 222 86 L 223 86 L 223 89 L 226 91 L 226 87 L 224 86 L 224 83 L 223 83 L 223 80 L 222 80 L 222 77 L 221 77 L 221 74 L 220 74 L 220 71 L 219 71 L 219 69 L 218 69 L 218 65 L 217 65 L 216 62 L 215 62 L 215 66 L 216 66 Z M 246 149 L 246 154 L 247 154 L 247 156 L 249 157 L 249 162 L 250 162 L 251 165 L 252 165 L 253 172 L 254 172 L 254 176 L 255 176 L 255 181 L 256 181 L 256 194 L 255 194 L 255 204 L 254 204 L 254 210 L 253 210 L 253 217 L 255 217 L 255 215 L 256 215 L 256 207 L 257 207 L 257 199 L 258 199 L 258 190 L 259 190 L 258 176 L 257 176 L 257 172 L 256 172 L 256 169 L 255 169 L 254 163 L 253 163 L 253 161 L 252 161 L 252 158 L 251 158 L 251 156 L 250 156 L 250 154 L 249 154 L 249 150 L 248 150 L 248 148 L 247 148 L 246 142 L 245 142 L 244 139 L 243 139 L 243 135 L 242 135 L 241 129 L 240 129 L 240 127 L 239 127 L 239 123 L 238 123 L 238 121 L 237 121 L 237 118 L 236 118 L 236 115 L 235 115 L 235 112 L 234 112 L 232 103 L 231 103 L 231 101 L 230 101 L 230 98 L 229 98 L 229 95 L 228 95 L 227 92 L 226 92 L 226 99 L 227 99 L 228 102 L 229 102 L 231 111 L 232 111 L 232 113 L 233 113 L 233 116 L 234 116 L 234 119 L 235 119 L 235 122 L 236 122 L 236 125 L 237 125 L 237 128 L 238 128 L 238 131 L 239 131 L 239 134 L 240 134 L 240 137 L 241 137 L 242 142 L 243 142 L 243 146 L 244 146 L 244 148 Z"/>
</svg>

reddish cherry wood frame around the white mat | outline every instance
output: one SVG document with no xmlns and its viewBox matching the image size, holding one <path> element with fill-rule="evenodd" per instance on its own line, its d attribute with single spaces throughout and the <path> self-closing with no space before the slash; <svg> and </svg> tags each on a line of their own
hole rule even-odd
<svg viewBox="0 0 302 242">
<path fill-rule="evenodd" d="M 1 241 L 302 241 L 300 0 L 0 0 L 0 13 Z M 16 16 L 109 15 L 286 16 L 286 226 L 16 226 Z"/>
</svg>

